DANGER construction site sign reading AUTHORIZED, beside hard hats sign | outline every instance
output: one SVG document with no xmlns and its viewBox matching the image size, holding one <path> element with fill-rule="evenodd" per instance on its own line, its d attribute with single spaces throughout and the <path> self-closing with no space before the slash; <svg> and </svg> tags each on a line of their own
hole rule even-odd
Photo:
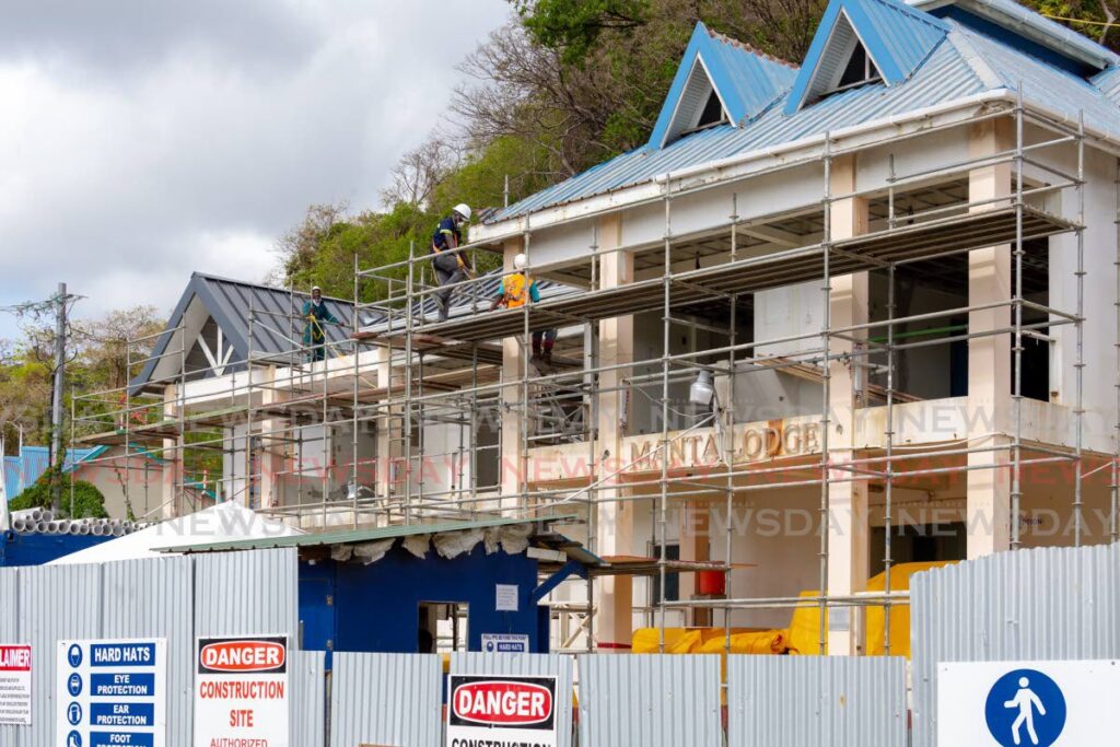
<svg viewBox="0 0 1120 747">
<path fill-rule="evenodd" d="M 195 747 L 288 747 L 288 637 L 198 638 Z"/>
</svg>

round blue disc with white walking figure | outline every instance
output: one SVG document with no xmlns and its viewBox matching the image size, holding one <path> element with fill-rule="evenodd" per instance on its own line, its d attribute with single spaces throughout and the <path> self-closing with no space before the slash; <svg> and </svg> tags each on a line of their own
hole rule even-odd
<svg viewBox="0 0 1120 747">
<path fill-rule="evenodd" d="M 1037 670 L 1012 670 L 992 685 L 984 718 L 1001 747 L 1051 747 L 1065 729 L 1065 695 Z"/>
</svg>

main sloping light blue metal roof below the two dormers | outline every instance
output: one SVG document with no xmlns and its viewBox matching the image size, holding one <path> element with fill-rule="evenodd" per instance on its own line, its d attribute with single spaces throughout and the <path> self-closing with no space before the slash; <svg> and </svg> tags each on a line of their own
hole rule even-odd
<svg viewBox="0 0 1120 747">
<path fill-rule="evenodd" d="M 915 9 L 909 9 L 909 12 L 923 15 L 923 11 Z M 1067 71 L 1024 54 L 955 20 L 935 20 L 948 29 L 945 41 L 936 45 L 925 62 L 899 85 L 871 83 L 850 88 L 803 106 L 792 114 L 784 111 L 780 100 L 741 127 L 715 127 L 690 134 L 660 150 L 643 147 L 617 156 L 495 213 L 488 222 L 495 223 L 595 195 L 609 194 L 683 168 L 764 148 L 776 148 L 828 131 L 885 120 L 988 91 L 1015 91 L 1020 82 L 1026 101 L 1057 110 L 1071 121 L 1076 121 L 1079 111 L 1083 111 L 1086 125 L 1120 136 L 1120 106 L 1107 93 L 1113 92 L 1112 95 L 1116 95 L 1114 92 L 1120 87 L 1120 74 L 1111 72 L 1098 76 L 1094 78 L 1101 86 L 1098 88 Z M 786 99 L 788 100 L 788 95 Z"/>
</svg>

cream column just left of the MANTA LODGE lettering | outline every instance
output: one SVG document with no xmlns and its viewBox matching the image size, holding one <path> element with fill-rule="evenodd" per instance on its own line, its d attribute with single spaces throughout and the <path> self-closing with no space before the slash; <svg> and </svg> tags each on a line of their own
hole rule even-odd
<svg viewBox="0 0 1120 747">
<path fill-rule="evenodd" d="M 622 218 L 607 216 L 599 222 L 599 279 L 603 288 L 626 284 L 634 279 L 634 256 L 613 251 L 622 245 Z M 599 365 L 634 361 L 634 318 L 613 317 L 599 321 Z M 627 435 L 627 391 L 615 390 L 629 375 L 627 368 L 599 375 L 599 412 L 592 480 L 603 482 L 596 497 L 596 552 L 600 555 L 642 554 L 634 547 L 634 503 L 614 501 L 628 494 L 610 475 L 625 464 L 622 439 Z M 604 577 L 595 585 L 595 631 L 601 650 L 627 651 L 633 636 L 634 585 L 629 577 Z"/>
</svg>

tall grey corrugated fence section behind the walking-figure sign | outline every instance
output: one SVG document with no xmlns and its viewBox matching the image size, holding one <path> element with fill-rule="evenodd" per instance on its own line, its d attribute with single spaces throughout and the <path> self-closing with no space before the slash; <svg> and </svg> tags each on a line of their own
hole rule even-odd
<svg viewBox="0 0 1120 747">
<path fill-rule="evenodd" d="M 914 576 L 914 747 L 937 740 L 937 664 L 1120 659 L 1120 545 L 1005 552 Z"/>
</svg>

